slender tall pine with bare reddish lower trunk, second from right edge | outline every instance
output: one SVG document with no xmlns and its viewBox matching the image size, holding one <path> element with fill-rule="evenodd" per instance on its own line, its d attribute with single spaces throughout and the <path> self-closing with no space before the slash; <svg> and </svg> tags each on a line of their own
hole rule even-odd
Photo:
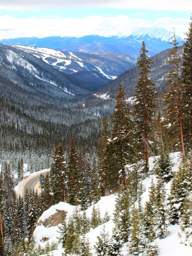
<svg viewBox="0 0 192 256">
<path fill-rule="evenodd" d="M 173 40 L 171 44 L 174 46 L 170 50 L 170 56 L 168 63 L 173 65 L 173 69 L 167 75 L 168 81 L 166 85 L 169 86 L 168 92 L 164 95 L 165 103 L 165 124 L 169 130 L 168 135 L 173 143 L 173 138 L 175 139 L 174 143 L 178 142 L 181 145 L 181 151 L 183 158 L 185 157 L 185 148 L 183 141 L 183 111 L 182 111 L 182 81 L 180 77 L 181 72 L 181 58 L 179 57 L 178 42 L 176 41 L 175 32 L 173 34 Z M 169 125 L 171 124 L 171 125 Z M 177 135 L 179 132 L 179 135 Z M 173 136 L 176 134 L 175 136 Z M 177 141 L 179 138 L 180 141 Z M 174 146 L 174 145 L 173 145 Z"/>
</svg>

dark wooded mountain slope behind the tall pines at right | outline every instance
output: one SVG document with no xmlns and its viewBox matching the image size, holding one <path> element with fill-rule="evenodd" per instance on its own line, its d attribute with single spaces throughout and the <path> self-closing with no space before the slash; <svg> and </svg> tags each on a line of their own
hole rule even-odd
<svg viewBox="0 0 192 256">
<path fill-rule="evenodd" d="M 180 46 L 178 49 L 179 55 L 181 56 L 183 52 L 183 46 Z M 166 75 L 172 69 L 172 64 L 168 63 L 170 55 L 170 49 L 166 49 L 163 52 L 160 52 L 154 56 L 152 56 L 152 68 L 150 72 L 150 79 L 156 84 L 156 90 L 162 94 L 167 88 L 165 86 L 166 83 Z M 127 97 L 132 97 L 134 94 L 135 85 L 138 81 L 139 77 L 139 69 L 138 66 L 134 66 L 129 68 L 118 78 L 110 81 L 103 87 L 99 88 L 97 91 L 97 95 L 105 94 L 106 97 L 114 98 L 118 92 L 118 87 L 122 83 L 123 88 L 125 89 L 125 93 Z"/>
</svg>

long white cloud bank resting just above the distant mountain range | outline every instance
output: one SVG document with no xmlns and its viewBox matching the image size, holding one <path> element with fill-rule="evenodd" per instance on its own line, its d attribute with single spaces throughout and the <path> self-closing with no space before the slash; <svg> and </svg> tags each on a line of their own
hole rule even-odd
<svg viewBox="0 0 192 256">
<path fill-rule="evenodd" d="M 189 19 L 157 18 L 155 21 L 132 19 L 124 15 L 117 17 L 89 16 L 87 18 L 13 18 L 0 17 L 0 39 L 46 36 L 129 36 L 138 28 L 164 28 L 183 36 L 188 31 Z"/>
</svg>

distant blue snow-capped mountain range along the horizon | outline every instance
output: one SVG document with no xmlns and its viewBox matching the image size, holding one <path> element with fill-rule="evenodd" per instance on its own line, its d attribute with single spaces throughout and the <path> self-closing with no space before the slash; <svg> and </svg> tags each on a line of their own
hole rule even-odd
<svg viewBox="0 0 192 256">
<path fill-rule="evenodd" d="M 92 35 L 81 37 L 51 36 L 47 38 L 13 38 L 0 40 L 6 45 L 25 45 L 47 47 L 66 52 L 120 52 L 137 58 L 142 41 L 145 41 L 150 56 L 171 46 L 168 44 L 172 32 L 165 29 L 139 28 L 131 31 L 129 28 L 121 31 L 94 31 Z M 181 38 L 178 38 L 181 42 Z"/>
</svg>

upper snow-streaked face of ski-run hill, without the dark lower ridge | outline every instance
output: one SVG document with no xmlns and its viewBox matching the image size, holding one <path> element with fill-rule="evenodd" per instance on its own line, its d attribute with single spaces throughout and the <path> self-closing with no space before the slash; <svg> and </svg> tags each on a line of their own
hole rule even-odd
<svg viewBox="0 0 192 256">
<path fill-rule="evenodd" d="M 41 58 L 55 69 L 66 74 L 90 71 L 102 74 L 109 80 L 115 79 L 123 71 L 136 64 L 136 59 L 126 54 L 112 52 L 86 54 L 25 45 L 14 45 L 14 47 Z"/>
</svg>

